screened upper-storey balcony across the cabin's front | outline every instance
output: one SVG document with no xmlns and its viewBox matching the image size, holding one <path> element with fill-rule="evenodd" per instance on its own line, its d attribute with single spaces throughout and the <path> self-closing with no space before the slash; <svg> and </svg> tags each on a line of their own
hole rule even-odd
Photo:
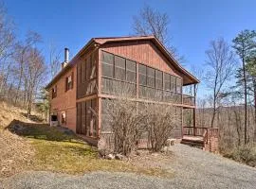
<svg viewBox="0 0 256 189">
<path fill-rule="evenodd" d="M 183 77 L 105 51 L 101 56 L 100 82 L 101 97 L 126 95 L 138 101 L 194 106 L 192 95 L 182 95 L 183 88 L 187 88 Z"/>
</svg>

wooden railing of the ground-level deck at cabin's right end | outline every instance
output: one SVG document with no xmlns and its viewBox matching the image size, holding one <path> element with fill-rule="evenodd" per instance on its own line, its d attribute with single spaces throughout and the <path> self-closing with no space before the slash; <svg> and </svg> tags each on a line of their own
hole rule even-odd
<svg viewBox="0 0 256 189">
<path fill-rule="evenodd" d="M 193 128 L 183 127 L 183 135 L 202 136 L 204 143 L 208 143 L 210 137 L 218 137 L 219 129 L 217 128 Z"/>
</svg>

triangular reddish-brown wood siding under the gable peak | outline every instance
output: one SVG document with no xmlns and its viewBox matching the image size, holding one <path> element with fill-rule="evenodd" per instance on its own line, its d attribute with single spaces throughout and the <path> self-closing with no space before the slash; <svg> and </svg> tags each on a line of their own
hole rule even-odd
<svg viewBox="0 0 256 189">
<path fill-rule="evenodd" d="M 150 41 L 106 43 L 101 46 L 101 49 L 154 67 L 176 77 L 182 77 L 182 74 L 174 68 L 172 62 L 168 61 L 155 44 Z"/>
</svg>

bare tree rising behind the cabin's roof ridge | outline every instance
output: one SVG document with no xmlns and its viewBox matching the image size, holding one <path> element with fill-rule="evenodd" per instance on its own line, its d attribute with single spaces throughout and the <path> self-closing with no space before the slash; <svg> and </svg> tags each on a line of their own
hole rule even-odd
<svg viewBox="0 0 256 189">
<path fill-rule="evenodd" d="M 170 19 L 167 13 L 161 13 L 145 5 L 133 19 L 132 27 L 135 35 L 154 35 L 159 42 L 167 47 L 169 52 L 177 60 L 183 60 L 183 57 L 177 55 L 174 45 L 170 44 L 170 35 L 168 32 Z"/>
</svg>

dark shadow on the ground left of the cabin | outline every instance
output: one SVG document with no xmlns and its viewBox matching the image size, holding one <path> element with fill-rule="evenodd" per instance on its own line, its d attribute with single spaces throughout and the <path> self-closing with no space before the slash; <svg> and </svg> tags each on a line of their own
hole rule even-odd
<svg viewBox="0 0 256 189">
<path fill-rule="evenodd" d="M 70 129 L 63 127 L 49 127 L 48 124 L 26 123 L 15 119 L 9 123 L 9 126 L 6 129 L 9 129 L 10 132 L 19 136 L 47 141 L 74 141 L 75 143 L 78 143 L 79 139 Z"/>
</svg>

